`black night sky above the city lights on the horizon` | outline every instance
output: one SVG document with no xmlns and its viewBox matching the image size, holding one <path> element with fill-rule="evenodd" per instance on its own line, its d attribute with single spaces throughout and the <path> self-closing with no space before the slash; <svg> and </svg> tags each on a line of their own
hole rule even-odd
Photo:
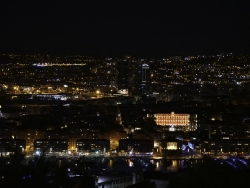
<svg viewBox="0 0 250 188">
<path fill-rule="evenodd" d="M 0 52 L 162 57 L 249 53 L 248 4 L 213 2 L 3 0 Z"/>
</svg>

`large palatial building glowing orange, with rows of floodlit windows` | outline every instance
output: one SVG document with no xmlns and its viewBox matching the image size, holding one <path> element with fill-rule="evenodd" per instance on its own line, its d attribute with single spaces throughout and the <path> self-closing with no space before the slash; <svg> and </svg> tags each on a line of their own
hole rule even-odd
<svg viewBox="0 0 250 188">
<path fill-rule="evenodd" d="M 171 112 L 154 114 L 155 122 L 169 131 L 195 131 L 197 129 L 197 115 L 175 114 Z"/>
</svg>

